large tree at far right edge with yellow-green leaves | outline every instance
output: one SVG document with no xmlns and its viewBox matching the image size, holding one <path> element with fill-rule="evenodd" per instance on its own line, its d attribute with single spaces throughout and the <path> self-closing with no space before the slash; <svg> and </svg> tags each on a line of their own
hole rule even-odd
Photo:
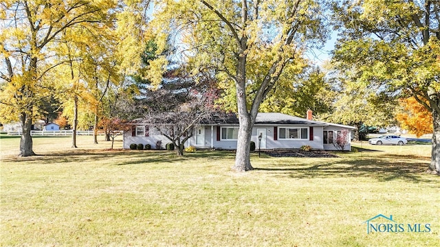
<svg viewBox="0 0 440 247">
<path fill-rule="evenodd" d="M 440 1 L 337 1 L 334 58 L 381 91 L 412 96 L 432 113 L 429 170 L 440 175 Z"/>
</svg>

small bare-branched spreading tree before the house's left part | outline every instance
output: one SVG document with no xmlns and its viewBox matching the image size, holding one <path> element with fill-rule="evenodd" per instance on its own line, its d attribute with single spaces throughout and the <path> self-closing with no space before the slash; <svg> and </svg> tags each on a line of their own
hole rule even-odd
<svg viewBox="0 0 440 247">
<path fill-rule="evenodd" d="M 197 126 L 210 119 L 212 113 L 217 113 L 218 108 L 213 102 L 218 94 L 212 75 L 193 75 L 186 64 L 171 60 L 166 62 L 168 67 L 161 76 L 163 82 L 160 85 L 146 76 L 155 59 L 161 56 L 173 58 L 175 49 L 172 47 L 168 43 L 162 54 L 157 54 L 156 41 L 146 43 L 141 56 L 144 66 L 132 77 L 139 93 L 135 95 L 135 112 L 145 124 L 168 138 L 179 155 L 184 155 L 184 143 L 193 136 Z"/>
</svg>

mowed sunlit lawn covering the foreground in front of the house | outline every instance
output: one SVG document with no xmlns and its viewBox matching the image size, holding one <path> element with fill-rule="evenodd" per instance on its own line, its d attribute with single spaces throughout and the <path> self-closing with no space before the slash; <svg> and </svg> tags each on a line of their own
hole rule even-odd
<svg viewBox="0 0 440 247">
<path fill-rule="evenodd" d="M 35 138 L 41 155 L 17 158 L 19 139 L 0 139 L 0 246 L 440 246 L 429 145 L 252 154 L 256 169 L 236 173 L 232 152 L 108 150 L 91 137 L 72 150 L 70 141 Z M 380 213 L 431 231 L 367 234 L 364 222 Z"/>
</svg>

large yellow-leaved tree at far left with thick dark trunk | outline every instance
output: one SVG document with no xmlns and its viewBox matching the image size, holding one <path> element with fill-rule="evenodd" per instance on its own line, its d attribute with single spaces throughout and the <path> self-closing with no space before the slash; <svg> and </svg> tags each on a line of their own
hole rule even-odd
<svg viewBox="0 0 440 247">
<path fill-rule="evenodd" d="M 20 156 L 34 155 L 30 130 L 36 100 L 46 91 L 47 71 L 64 61 L 53 47 L 64 30 L 84 23 L 107 21 L 113 1 L 6 0 L 0 5 L 0 54 L 3 80 L 1 103 L 20 116 L 23 134 Z M 5 100 L 10 97 L 9 100 Z"/>
</svg>

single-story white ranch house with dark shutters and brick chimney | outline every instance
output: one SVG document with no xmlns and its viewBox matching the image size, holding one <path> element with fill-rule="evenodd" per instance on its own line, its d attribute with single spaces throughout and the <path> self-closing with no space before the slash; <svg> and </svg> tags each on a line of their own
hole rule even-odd
<svg viewBox="0 0 440 247">
<path fill-rule="evenodd" d="M 313 121 L 311 111 L 307 113 L 307 119 L 282 113 L 259 113 L 252 129 L 251 141 L 256 143 L 257 148 L 261 145 L 262 150 L 294 149 L 303 145 L 310 145 L 314 150 L 338 150 L 333 142 L 342 132 L 348 132 L 344 150 L 351 150 L 351 130 L 355 130 L 355 127 Z M 222 121 L 201 124 L 185 145 L 235 150 L 238 132 L 239 120 L 234 115 Z M 131 143 L 150 144 L 154 147 L 159 140 L 162 143 L 170 142 L 155 128 L 133 123 L 132 131 L 124 132 L 123 148 L 128 149 Z"/>
</svg>

